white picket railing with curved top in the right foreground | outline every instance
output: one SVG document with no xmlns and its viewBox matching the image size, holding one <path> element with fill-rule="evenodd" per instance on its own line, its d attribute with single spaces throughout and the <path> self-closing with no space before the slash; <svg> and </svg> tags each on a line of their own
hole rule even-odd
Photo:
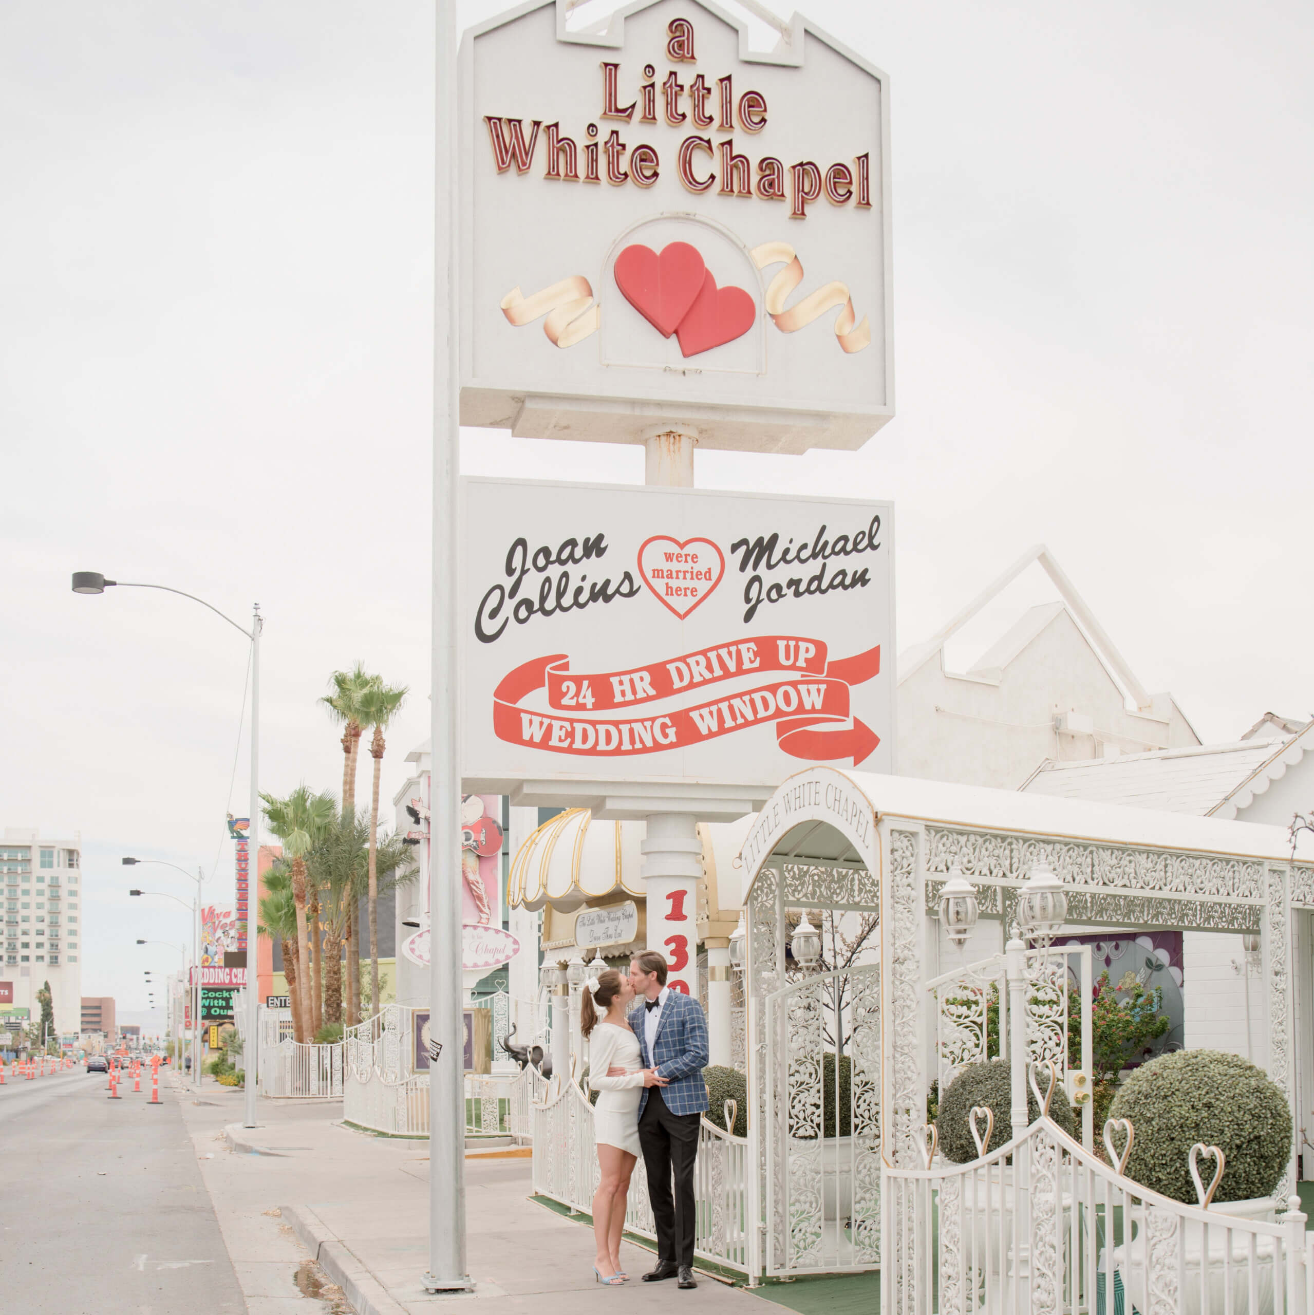
<svg viewBox="0 0 1314 1315">
<path fill-rule="evenodd" d="M 1046 1116 L 967 1164 L 885 1166 L 884 1315 L 1305 1315 L 1305 1215 L 1121 1176 Z"/>
</svg>

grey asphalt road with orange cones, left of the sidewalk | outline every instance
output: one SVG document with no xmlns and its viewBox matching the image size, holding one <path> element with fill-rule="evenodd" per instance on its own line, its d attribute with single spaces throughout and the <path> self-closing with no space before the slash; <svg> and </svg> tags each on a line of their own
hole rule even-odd
<svg viewBox="0 0 1314 1315">
<path fill-rule="evenodd" d="M 80 1066 L 0 1086 L 0 1308 L 243 1315 L 172 1084 L 120 1093 Z"/>
</svg>

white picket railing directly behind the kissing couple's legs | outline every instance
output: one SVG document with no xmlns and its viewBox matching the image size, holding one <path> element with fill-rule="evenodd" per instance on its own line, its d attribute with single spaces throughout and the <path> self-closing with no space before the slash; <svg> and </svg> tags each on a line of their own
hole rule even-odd
<svg viewBox="0 0 1314 1315">
<path fill-rule="evenodd" d="M 592 1212 L 598 1182 L 593 1107 L 573 1082 L 554 1078 L 545 1098 L 534 1105 L 533 1115 L 534 1191 L 572 1210 Z M 733 1114 L 726 1123 L 733 1126 Z M 694 1168 L 694 1255 L 746 1273 L 747 1152 L 744 1137 L 726 1134 L 702 1119 Z M 642 1160 L 630 1180 L 625 1227 L 643 1237 L 656 1239 Z"/>
</svg>

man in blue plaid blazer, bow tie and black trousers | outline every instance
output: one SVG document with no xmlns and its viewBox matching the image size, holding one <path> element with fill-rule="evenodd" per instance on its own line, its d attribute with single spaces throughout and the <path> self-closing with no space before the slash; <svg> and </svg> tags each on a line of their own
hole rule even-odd
<svg viewBox="0 0 1314 1315">
<path fill-rule="evenodd" d="M 630 1027 L 639 1039 L 645 1082 L 639 1097 L 639 1145 L 648 1176 L 648 1201 L 658 1233 L 656 1269 L 647 1283 L 693 1279 L 693 1164 L 698 1156 L 698 1124 L 708 1107 L 708 1020 L 702 1006 L 666 984 L 666 956 L 646 949 L 630 960 L 635 1009 Z M 671 1178 L 675 1177 L 675 1197 Z"/>
</svg>

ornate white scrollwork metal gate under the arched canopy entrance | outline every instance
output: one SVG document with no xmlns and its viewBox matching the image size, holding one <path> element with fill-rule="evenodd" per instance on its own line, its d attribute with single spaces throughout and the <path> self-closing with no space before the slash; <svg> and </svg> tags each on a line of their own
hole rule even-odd
<svg viewBox="0 0 1314 1315">
<path fill-rule="evenodd" d="M 880 1264 L 880 964 L 812 973 L 766 1001 L 766 1272 Z"/>
</svg>

